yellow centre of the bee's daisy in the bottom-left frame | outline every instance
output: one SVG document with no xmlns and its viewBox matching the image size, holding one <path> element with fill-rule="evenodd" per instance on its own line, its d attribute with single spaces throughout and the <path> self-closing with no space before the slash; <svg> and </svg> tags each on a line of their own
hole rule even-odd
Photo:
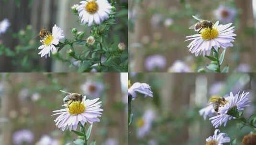
<svg viewBox="0 0 256 145">
<path fill-rule="evenodd" d="M 73 101 L 68 105 L 68 112 L 72 115 L 82 114 L 85 111 L 85 106 L 80 101 Z"/>
</svg>

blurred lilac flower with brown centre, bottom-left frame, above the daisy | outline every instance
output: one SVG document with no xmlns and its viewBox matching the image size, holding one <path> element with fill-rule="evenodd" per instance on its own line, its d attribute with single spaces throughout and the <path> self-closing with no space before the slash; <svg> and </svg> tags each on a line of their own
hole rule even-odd
<svg viewBox="0 0 256 145">
<path fill-rule="evenodd" d="M 84 84 L 82 84 L 80 88 L 85 95 L 96 98 L 100 96 L 100 94 L 104 89 L 104 86 L 102 83 L 93 82 L 89 80 L 89 81 L 86 81 Z"/>
</svg>

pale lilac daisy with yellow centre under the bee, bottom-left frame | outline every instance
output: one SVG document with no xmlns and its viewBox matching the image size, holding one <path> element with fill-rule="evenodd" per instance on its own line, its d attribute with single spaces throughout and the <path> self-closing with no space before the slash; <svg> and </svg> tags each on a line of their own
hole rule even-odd
<svg viewBox="0 0 256 145">
<path fill-rule="evenodd" d="M 71 131 L 77 129 L 79 122 L 81 124 L 100 122 L 99 117 L 102 114 L 100 112 L 103 109 L 100 108 L 101 102 L 97 102 L 99 99 L 89 100 L 84 96 L 82 102 L 73 101 L 68 106 L 66 105 L 65 109 L 53 111 L 57 112 L 53 115 L 59 115 L 54 121 L 56 126 L 61 128 L 62 131 L 65 129 Z"/>
</svg>

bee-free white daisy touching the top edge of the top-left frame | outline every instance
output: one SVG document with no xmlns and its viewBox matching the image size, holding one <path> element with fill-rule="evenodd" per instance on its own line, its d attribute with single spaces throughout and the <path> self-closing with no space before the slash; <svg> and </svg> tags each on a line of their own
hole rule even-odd
<svg viewBox="0 0 256 145">
<path fill-rule="evenodd" d="M 77 7 L 81 23 L 91 26 L 109 18 L 112 6 L 108 0 L 83 0 Z"/>
</svg>

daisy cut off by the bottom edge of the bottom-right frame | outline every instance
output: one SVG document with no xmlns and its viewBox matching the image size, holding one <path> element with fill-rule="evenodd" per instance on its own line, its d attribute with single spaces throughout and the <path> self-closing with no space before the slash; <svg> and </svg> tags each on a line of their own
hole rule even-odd
<svg viewBox="0 0 256 145">
<path fill-rule="evenodd" d="M 230 137 L 226 133 L 219 133 L 220 130 L 216 129 L 214 135 L 206 139 L 205 145 L 223 145 L 223 143 L 229 143 Z M 219 134 L 218 134 L 219 133 Z"/>
</svg>

